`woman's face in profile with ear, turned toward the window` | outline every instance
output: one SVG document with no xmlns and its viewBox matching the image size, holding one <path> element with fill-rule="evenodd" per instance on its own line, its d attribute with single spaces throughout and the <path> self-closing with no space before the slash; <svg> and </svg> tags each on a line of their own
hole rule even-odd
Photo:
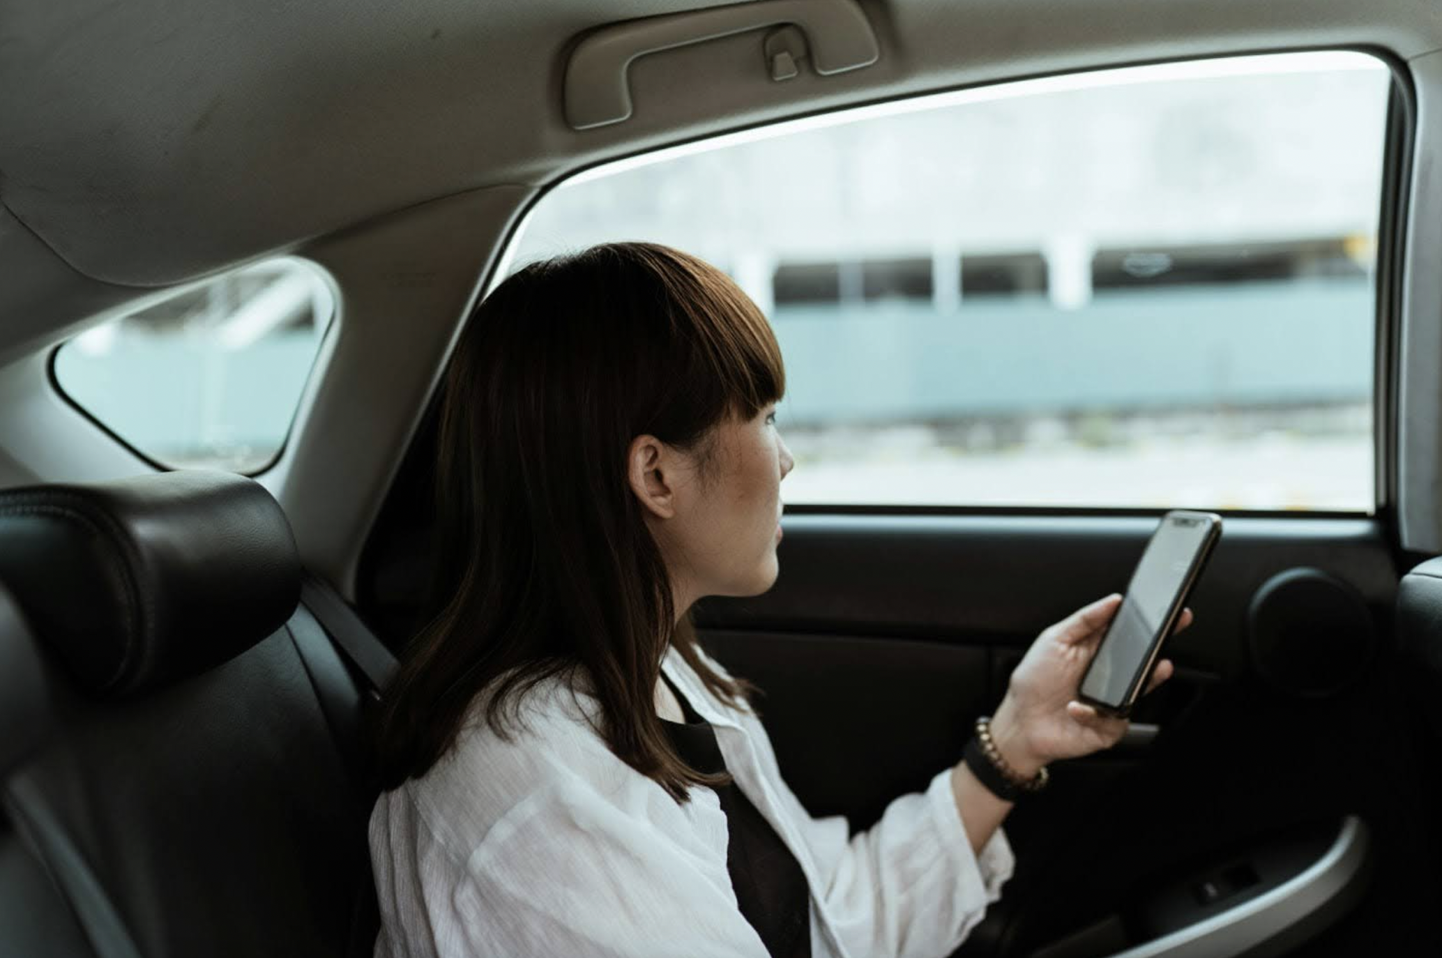
<svg viewBox="0 0 1442 958">
<path fill-rule="evenodd" d="M 649 446 L 660 449 L 647 456 Z M 632 444 L 632 486 L 640 466 L 646 495 L 637 495 L 671 570 L 678 615 L 702 596 L 754 596 L 771 587 L 780 486 L 793 465 L 776 430 L 774 403 L 750 420 L 724 420 L 692 453 L 646 436 Z"/>
</svg>

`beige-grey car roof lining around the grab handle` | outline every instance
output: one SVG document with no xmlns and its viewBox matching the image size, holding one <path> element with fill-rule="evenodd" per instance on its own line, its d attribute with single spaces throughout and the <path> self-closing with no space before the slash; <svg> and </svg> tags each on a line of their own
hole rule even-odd
<svg viewBox="0 0 1442 958">
<path fill-rule="evenodd" d="M 1442 46 L 1442 20 L 1407 0 L 891 0 L 864 7 L 881 46 L 867 69 L 777 84 L 760 58 L 746 69 L 728 49 L 750 52 L 756 38 L 731 38 L 639 59 L 627 123 L 567 126 L 561 81 L 578 35 L 705 6 L 12 0 L 4 229 L 23 225 L 84 276 L 151 287 L 440 196 L 544 185 L 848 102 L 1256 49 L 1373 43 L 1409 58 Z"/>
</svg>

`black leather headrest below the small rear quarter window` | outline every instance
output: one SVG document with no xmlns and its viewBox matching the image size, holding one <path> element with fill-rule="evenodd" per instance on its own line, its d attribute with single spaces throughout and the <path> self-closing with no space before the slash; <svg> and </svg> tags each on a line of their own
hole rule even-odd
<svg viewBox="0 0 1442 958">
<path fill-rule="evenodd" d="M 239 655 L 296 610 L 300 574 L 280 504 L 232 473 L 0 491 L 0 583 L 91 694 Z"/>
</svg>

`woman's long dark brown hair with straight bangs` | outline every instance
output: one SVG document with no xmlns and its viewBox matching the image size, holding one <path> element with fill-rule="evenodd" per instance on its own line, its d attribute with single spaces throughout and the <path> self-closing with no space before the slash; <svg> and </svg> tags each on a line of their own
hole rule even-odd
<svg viewBox="0 0 1442 958">
<path fill-rule="evenodd" d="M 469 317 L 441 392 L 440 550 L 428 625 L 376 716 L 384 788 L 424 775 L 473 700 L 502 737 L 521 697 L 584 674 L 596 731 L 678 802 L 720 785 L 671 747 L 655 690 L 675 645 L 718 698 L 754 688 L 708 667 L 629 482 L 636 436 L 714 467 L 711 429 L 786 388 L 780 348 L 720 270 L 647 242 L 534 263 Z M 593 723 L 596 724 L 596 723 Z"/>
</svg>

